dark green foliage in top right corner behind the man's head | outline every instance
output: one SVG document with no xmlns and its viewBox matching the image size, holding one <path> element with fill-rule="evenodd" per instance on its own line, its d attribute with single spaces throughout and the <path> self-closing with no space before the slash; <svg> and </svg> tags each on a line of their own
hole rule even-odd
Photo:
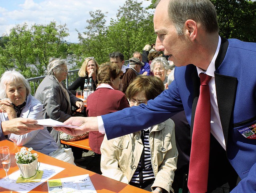
<svg viewBox="0 0 256 193">
<path fill-rule="evenodd" d="M 220 36 L 256 42 L 256 1 L 211 0 L 215 5 Z"/>
</svg>

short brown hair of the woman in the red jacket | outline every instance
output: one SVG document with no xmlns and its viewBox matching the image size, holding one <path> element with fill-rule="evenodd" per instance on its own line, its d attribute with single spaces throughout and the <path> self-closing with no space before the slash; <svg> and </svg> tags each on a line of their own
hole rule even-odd
<svg viewBox="0 0 256 193">
<path fill-rule="evenodd" d="M 116 79 L 121 73 L 122 70 L 117 64 L 111 62 L 101 64 L 97 74 L 98 84 L 111 84 L 110 78 Z"/>
</svg>

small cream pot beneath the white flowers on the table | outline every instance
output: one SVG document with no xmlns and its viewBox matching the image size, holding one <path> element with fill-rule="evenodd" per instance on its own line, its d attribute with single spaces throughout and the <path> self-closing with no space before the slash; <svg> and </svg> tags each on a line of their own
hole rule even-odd
<svg viewBox="0 0 256 193">
<path fill-rule="evenodd" d="M 37 172 L 37 162 L 38 159 L 33 161 L 32 163 L 17 163 L 19 169 L 20 169 L 20 174 L 23 178 L 31 178 L 36 175 Z"/>
</svg>

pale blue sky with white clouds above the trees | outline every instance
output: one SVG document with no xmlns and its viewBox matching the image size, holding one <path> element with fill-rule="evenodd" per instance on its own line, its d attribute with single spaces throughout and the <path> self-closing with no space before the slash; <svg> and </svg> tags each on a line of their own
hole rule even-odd
<svg viewBox="0 0 256 193">
<path fill-rule="evenodd" d="M 84 32 L 86 20 L 90 19 L 90 11 L 102 10 L 106 14 L 106 24 L 110 18 L 116 18 L 116 13 L 125 0 L 1 0 L 0 1 L 0 36 L 9 34 L 16 24 L 26 22 L 32 24 L 49 24 L 56 21 L 57 25 L 67 24 L 68 42 L 78 42 L 79 32 Z M 143 2 L 142 6 L 149 6 L 151 1 Z"/>
</svg>

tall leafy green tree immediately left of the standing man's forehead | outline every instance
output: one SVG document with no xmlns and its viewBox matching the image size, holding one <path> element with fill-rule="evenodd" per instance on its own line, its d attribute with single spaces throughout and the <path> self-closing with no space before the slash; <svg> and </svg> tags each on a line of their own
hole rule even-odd
<svg viewBox="0 0 256 193">
<path fill-rule="evenodd" d="M 128 60 L 134 51 L 142 51 L 146 44 L 155 41 L 152 16 L 142 7 L 142 2 L 126 0 L 111 19 L 108 27 L 110 50 L 119 51 Z"/>
</svg>

